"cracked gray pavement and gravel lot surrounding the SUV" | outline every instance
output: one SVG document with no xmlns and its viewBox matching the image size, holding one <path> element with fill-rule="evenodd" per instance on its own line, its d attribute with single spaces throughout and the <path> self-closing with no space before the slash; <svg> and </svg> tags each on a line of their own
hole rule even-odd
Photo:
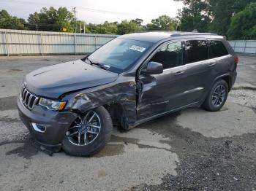
<svg viewBox="0 0 256 191">
<path fill-rule="evenodd" d="M 256 191 L 256 62 L 241 55 L 219 112 L 191 108 L 114 129 L 94 157 L 41 152 L 15 106 L 23 77 L 80 56 L 0 57 L 0 190 Z"/>
</svg>

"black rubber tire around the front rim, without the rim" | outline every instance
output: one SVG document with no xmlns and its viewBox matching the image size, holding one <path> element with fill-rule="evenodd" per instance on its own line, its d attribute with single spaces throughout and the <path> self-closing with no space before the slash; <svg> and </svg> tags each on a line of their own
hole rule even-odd
<svg viewBox="0 0 256 191">
<path fill-rule="evenodd" d="M 64 140 L 62 141 L 62 148 L 67 154 L 80 157 L 89 157 L 91 155 L 95 155 L 97 152 L 103 149 L 110 140 L 113 130 L 110 114 L 103 106 L 99 106 L 98 108 L 92 109 L 91 111 L 96 112 L 101 121 L 101 129 L 97 138 L 90 144 L 78 146 L 72 144 L 67 136 L 65 136 Z"/>
</svg>

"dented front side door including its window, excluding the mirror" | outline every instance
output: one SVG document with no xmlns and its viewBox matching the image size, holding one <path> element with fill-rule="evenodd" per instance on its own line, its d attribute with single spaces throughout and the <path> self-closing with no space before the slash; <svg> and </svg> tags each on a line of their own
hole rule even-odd
<svg viewBox="0 0 256 191">
<path fill-rule="evenodd" d="M 187 104 L 187 66 L 183 63 L 183 42 L 169 42 L 154 53 L 150 61 L 162 63 L 162 74 L 138 77 L 137 118 L 143 120 L 178 109 Z M 146 67 L 146 66 L 145 66 Z"/>
</svg>

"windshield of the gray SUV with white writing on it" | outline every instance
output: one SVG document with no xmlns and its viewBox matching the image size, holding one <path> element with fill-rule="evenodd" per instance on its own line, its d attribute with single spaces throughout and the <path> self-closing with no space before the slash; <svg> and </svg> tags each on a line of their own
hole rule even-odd
<svg viewBox="0 0 256 191">
<path fill-rule="evenodd" d="M 99 63 L 116 73 L 127 71 L 151 46 L 149 42 L 113 39 L 89 55 L 91 63 Z"/>
</svg>

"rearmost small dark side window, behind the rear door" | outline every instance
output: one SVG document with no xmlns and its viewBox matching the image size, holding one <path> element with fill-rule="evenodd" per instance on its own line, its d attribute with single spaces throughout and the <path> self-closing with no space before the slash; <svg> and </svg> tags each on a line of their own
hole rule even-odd
<svg viewBox="0 0 256 191">
<path fill-rule="evenodd" d="M 227 49 L 221 41 L 210 41 L 210 58 L 217 58 L 228 55 Z"/>
</svg>

